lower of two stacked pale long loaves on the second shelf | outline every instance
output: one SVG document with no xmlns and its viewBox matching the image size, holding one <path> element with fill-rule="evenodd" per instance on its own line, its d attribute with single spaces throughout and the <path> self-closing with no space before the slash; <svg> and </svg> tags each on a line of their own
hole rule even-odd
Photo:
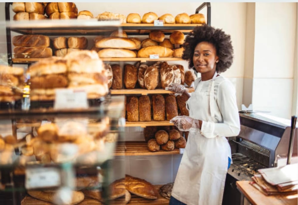
<svg viewBox="0 0 298 205">
<path fill-rule="evenodd" d="M 105 48 L 98 51 L 100 58 L 135 58 L 136 53 L 128 49 Z"/>
</svg>

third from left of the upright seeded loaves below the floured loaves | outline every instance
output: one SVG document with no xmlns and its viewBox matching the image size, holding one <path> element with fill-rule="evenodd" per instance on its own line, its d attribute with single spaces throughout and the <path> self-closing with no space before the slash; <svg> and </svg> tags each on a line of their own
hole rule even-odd
<svg viewBox="0 0 298 205">
<path fill-rule="evenodd" d="M 165 100 L 161 94 L 152 96 L 153 120 L 163 121 L 165 119 Z"/>
</svg>

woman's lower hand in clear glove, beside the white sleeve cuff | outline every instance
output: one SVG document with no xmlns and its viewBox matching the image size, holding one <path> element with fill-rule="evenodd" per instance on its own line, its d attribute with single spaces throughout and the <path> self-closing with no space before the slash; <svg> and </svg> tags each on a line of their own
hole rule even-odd
<svg viewBox="0 0 298 205">
<path fill-rule="evenodd" d="M 190 131 L 191 129 L 200 129 L 198 120 L 193 119 L 189 116 L 176 116 L 170 120 L 170 123 L 174 123 L 181 131 Z"/>
</svg>

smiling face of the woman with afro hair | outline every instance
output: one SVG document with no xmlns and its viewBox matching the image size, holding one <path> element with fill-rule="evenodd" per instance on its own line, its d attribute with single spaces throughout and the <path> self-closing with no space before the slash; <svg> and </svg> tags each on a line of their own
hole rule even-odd
<svg viewBox="0 0 298 205">
<path fill-rule="evenodd" d="M 214 74 L 218 56 L 216 48 L 212 43 L 203 41 L 198 43 L 193 53 L 193 65 L 201 74 Z"/>
</svg>

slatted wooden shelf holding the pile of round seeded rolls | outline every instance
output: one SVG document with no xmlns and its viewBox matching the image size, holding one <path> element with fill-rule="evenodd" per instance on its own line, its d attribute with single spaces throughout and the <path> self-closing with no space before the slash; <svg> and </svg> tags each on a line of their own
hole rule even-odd
<svg viewBox="0 0 298 205">
<path fill-rule="evenodd" d="M 180 154 L 179 149 L 166 152 L 159 150 L 158 152 L 150 152 L 146 141 L 122 141 L 118 142 L 114 155 L 115 156 L 140 156 L 140 155 L 167 155 Z"/>
</svg>

